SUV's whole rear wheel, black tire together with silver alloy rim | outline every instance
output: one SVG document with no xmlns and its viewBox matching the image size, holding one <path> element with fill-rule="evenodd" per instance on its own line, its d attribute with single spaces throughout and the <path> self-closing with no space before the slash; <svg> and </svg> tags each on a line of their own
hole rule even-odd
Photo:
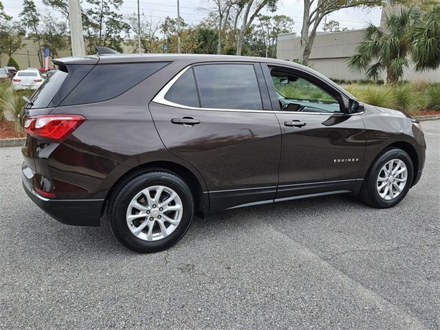
<svg viewBox="0 0 440 330">
<path fill-rule="evenodd" d="M 159 208 L 173 192 L 177 197 Z M 152 253 L 170 248 L 184 236 L 194 215 L 194 200 L 183 179 L 154 171 L 129 180 L 109 199 L 107 210 L 111 230 L 126 248 Z"/>
</svg>

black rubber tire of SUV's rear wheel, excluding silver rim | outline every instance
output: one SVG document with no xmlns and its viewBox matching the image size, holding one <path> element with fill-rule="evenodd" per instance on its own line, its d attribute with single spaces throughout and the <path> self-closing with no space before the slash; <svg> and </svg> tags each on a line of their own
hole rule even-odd
<svg viewBox="0 0 440 330">
<path fill-rule="evenodd" d="M 129 229 L 126 212 L 131 199 L 144 188 L 151 186 L 165 186 L 173 189 L 181 199 L 183 210 L 177 228 L 168 236 L 157 241 L 144 241 Z M 154 171 L 137 175 L 124 184 L 109 199 L 107 210 L 111 230 L 126 248 L 140 253 L 152 253 L 170 248 L 186 234 L 194 215 L 194 201 L 190 188 L 183 179 L 172 173 Z"/>
</svg>

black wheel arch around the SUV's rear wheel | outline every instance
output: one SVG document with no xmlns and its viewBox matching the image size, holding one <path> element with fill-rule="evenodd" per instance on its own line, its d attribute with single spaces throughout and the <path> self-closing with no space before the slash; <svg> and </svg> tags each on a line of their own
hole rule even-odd
<svg viewBox="0 0 440 330">
<path fill-rule="evenodd" d="M 192 173 L 192 171 L 182 164 L 176 162 L 170 162 L 168 160 L 160 160 L 147 162 L 144 164 L 140 164 L 135 166 L 129 170 L 127 170 L 121 177 L 119 177 L 111 186 L 109 191 L 107 192 L 106 197 L 104 198 L 105 203 L 102 206 L 101 215 L 104 213 L 104 209 L 109 202 L 109 199 L 113 195 L 115 191 L 118 191 L 127 181 L 130 180 L 131 177 L 135 177 L 136 175 L 140 175 L 142 173 L 151 172 L 154 170 L 161 170 L 164 172 L 169 172 L 177 175 L 181 179 L 188 184 L 188 187 L 191 190 L 192 196 L 194 197 L 195 202 L 195 214 L 197 217 L 203 218 L 209 210 L 209 199 L 208 195 L 203 192 L 204 183 L 199 181 L 197 175 Z"/>
</svg>

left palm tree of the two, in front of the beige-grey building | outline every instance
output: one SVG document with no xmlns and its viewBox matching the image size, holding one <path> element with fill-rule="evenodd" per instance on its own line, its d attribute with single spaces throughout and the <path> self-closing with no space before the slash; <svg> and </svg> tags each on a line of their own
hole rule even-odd
<svg viewBox="0 0 440 330">
<path fill-rule="evenodd" d="M 362 43 L 349 58 L 349 68 L 374 80 L 385 73 L 386 83 L 397 83 L 410 64 L 412 25 L 417 14 L 417 10 L 403 8 L 397 14 L 386 15 L 384 26 L 370 23 Z"/>
</svg>

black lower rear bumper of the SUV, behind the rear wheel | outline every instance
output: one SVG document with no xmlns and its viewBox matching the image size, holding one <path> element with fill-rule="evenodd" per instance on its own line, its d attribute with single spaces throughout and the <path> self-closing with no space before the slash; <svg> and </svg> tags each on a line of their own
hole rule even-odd
<svg viewBox="0 0 440 330">
<path fill-rule="evenodd" d="M 48 199 L 38 195 L 23 175 L 23 188 L 41 210 L 66 225 L 98 227 L 104 199 Z"/>
</svg>

